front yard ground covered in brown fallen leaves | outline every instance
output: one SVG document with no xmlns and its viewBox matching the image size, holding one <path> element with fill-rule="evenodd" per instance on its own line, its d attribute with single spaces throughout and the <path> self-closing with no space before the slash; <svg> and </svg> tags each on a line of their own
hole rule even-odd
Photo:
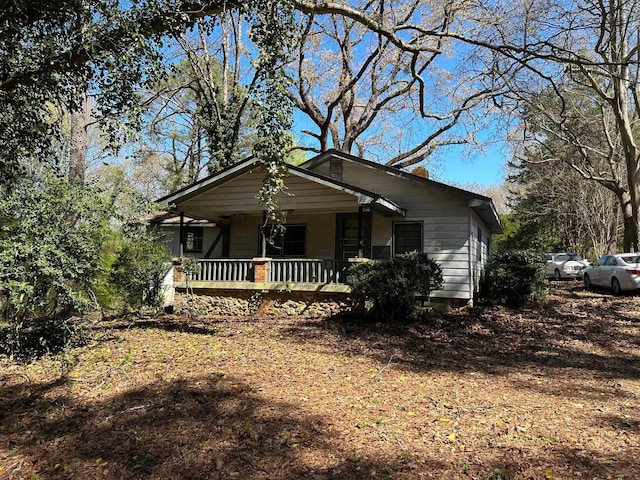
<svg viewBox="0 0 640 480">
<path fill-rule="evenodd" d="M 0 360 L 0 479 L 637 479 L 640 296 L 404 326 L 111 321 Z"/>
</svg>

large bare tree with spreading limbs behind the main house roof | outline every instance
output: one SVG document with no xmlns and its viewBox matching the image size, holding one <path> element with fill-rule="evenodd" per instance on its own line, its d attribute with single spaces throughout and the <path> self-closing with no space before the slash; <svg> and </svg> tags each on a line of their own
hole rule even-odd
<svg viewBox="0 0 640 480">
<path fill-rule="evenodd" d="M 415 18 L 446 31 L 457 20 L 450 2 L 361 2 L 360 12 L 410 25 Z M 322 5 L 320 5 L 322 8 Z M 421 29 L 408 45 L 362 24 L 362 17 L 316 15 L 304 19 L 292 98 L 314 124 L 303 133 L 306 150 L 336 148 L 375 155 L 398 168 L 419 163 L 437 148 L 474 141 L 474 113 L 500 93 L 486 80 L 475 49 L 456 50 L 446 38 Z M 451 56 L 464 56 L 452 62 Z M 486 110 L 485 110 L 486 111 Z M 459 128 L 465 121 L 466 128 Z M 477 126 L 477 125 L 476 125 Z"/>
</svg>

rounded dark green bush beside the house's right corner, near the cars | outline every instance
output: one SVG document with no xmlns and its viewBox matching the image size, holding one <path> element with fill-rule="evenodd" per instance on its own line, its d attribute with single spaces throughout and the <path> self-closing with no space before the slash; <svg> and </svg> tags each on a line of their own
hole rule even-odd
<svg viewBox="0 0 640 480">
<path fill-rule="evenodd" d="M 541 300 L 547 292 L 543 257 L 518 250 L 495 252 L 487 264 L 485 289 L 491 303 L 513 308 Z"/>
</svg>

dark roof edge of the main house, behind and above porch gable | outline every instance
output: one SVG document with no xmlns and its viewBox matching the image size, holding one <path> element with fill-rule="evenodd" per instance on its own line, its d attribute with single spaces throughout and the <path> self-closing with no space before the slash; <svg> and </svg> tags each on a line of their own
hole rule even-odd
<svg viewBox="0 0 640 480">
<path fill-rule="evenodd" d="M 328 162 L 331 158 L 346 160 L 348 162 L 356 163 L 367 168 L 382 171 L 395 177 L 403 178 L 412 182 L 417 182 L 422 185 L 427 185 L 429 187 L 466 198 L 468 200 L 469 208 L 472 208 L 478 214 L 478 216 L 489 227 L 492 233 L 502 233 L 504 231 L 502 228 L 502 222 L 500 221 L 500 216 L 498 215 L 495 205 L 493 204 L 493 200 L 490 197 L 480 195 L 479 193 L 470 192 L 462 188 L 447 185 L 446 183 L 436 182 L 435 180 L 420 177 L 412 173 L 404 172 L 397 168 L 389 167 L 381 163 L 372 162 L 371 160 L 356 157 L 355 155 L 340 152 L 335 149 L 329 149 L 323 153 L 320 153 L 314 158 L 304 162 L 302 165 L 300 165 L 300 168 L 312 171 L 316 167 Z"/>
</svg>

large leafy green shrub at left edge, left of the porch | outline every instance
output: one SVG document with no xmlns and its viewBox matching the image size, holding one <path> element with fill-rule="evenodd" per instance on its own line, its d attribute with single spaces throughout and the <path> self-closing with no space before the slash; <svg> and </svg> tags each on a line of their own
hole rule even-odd
<svg viewBox="0 0 640 480">
<path fill-rule="evenodd" d="M 99 192 L 49 177 L 23 179 L 0 198 L 0 318 L 6 353 L 75 341 L 67 321 L 91 301 L 109 209 Z"/>
</svg>

